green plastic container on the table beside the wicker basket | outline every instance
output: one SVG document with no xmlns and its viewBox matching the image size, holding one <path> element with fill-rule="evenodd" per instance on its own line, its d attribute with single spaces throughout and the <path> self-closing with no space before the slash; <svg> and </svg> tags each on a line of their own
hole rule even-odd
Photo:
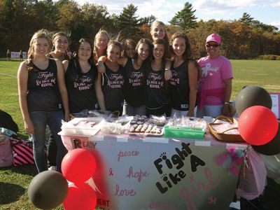
<svg viewBox="0 0 280 210">
<path fill-rule="evenodd" d="M 183 139 L 204 139 L 204 129 L 202 127 L 181 127 L 165 125 L 165 137 L 176 137 Z"/>
</svg>

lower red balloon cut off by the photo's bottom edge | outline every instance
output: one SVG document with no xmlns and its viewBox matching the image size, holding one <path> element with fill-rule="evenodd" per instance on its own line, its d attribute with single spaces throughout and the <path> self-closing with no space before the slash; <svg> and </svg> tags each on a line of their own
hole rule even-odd
<svg viewBox="0 0 280 210">
<path fill-rule="evenodd" d="M 87 183 L 80 183 L 78 186 L 69 186 L 69 193 L 63 202 L 65 210 L 90 210 L 97 204 L 97 195 Z"/>
</svg>

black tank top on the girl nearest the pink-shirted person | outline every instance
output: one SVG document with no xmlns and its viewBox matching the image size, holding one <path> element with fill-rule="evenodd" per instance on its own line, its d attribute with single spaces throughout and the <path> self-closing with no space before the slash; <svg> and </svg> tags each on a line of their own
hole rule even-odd
<svg viewBox="0 0 280 210">
<path fill-rule="evenodd" d="M 190 86 L 188 83 L 188 62 L 183 62 L 180 66 L 171 66 L 172 78 L 169 80 L 171 105 L 173 109 L 188 111 Z"/>
</svg>

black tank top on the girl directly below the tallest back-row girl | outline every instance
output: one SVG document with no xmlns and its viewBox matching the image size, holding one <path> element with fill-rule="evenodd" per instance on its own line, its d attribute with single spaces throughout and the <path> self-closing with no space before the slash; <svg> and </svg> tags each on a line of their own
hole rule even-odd
<svg viewBox="0 0 280 210">
<path fill-rule="evenodd" d="M 148 71 L 146 78 L 146 106 L 151 109 L 160 108 L 169 103 L 169 92 L 165 83 L 165 71 Z"/>
</svg>

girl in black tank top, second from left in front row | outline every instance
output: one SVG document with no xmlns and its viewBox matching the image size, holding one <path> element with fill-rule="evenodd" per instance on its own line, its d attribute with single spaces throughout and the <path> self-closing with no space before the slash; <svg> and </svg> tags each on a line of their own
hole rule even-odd
<svg viewBox="0 0 280 210">
<path fill-rule="evenodd" d="M 94 87 L 97 67 L 94 64 L 92 44 L 81 38 L 76 52 L 70 61 L 63 62 L 70 113 L 98 108 Z"/>
</svg>

